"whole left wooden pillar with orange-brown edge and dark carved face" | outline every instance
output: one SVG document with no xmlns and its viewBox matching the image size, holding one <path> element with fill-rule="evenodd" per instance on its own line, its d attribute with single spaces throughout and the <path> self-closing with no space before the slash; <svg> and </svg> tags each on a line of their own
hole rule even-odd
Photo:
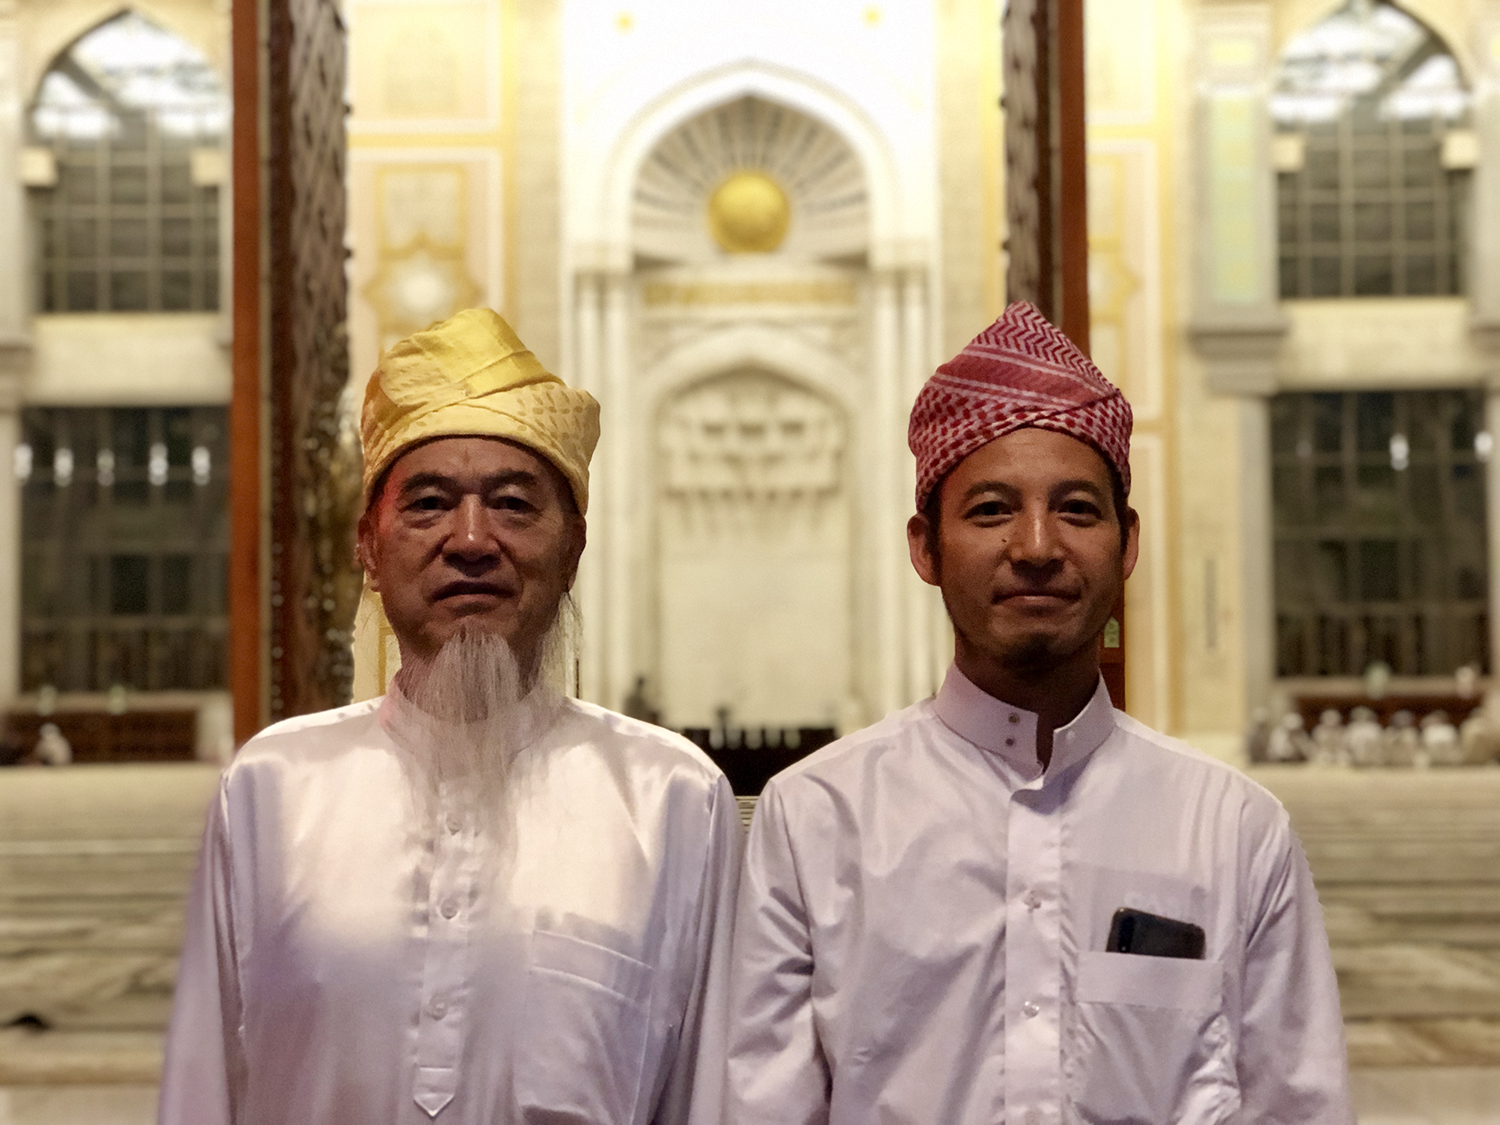
<svg viewBox="0 0 1500 1125">
<path fill-rule="evenodd" d="M 231 676 L 236 740 L 348 700 L 358 446 L 334 0 L 234 0 Z"/>
</svg>

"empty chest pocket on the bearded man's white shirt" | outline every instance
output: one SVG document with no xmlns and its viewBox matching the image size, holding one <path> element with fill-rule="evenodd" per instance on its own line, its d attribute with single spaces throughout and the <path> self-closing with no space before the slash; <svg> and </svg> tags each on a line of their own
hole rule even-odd
<svg viewBox="0 0 1500 1125">
<path fill-rule="evenodd" d="M 537 930 L 518 1029 L 520 1119 L 536 1125 L 628 1125 L 645 1065 L 650 964 Z"/>
</svg>

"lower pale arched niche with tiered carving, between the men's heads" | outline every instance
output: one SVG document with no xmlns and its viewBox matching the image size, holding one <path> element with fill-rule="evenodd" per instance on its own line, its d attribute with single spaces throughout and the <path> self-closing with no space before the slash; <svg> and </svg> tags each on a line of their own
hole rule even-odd
<svg viewBox="0 0 1500 1125">
<path fill-rule="evenodd" d="M 666 398 L 652 446 L 664 722 L 837 724 L 850 692 L 844 411 L 736 368 Z"/>
</svg>

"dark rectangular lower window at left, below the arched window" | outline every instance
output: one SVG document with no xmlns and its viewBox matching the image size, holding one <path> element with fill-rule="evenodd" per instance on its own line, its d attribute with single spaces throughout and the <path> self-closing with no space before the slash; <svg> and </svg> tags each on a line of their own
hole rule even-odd
<svg viewBox="0 0 1500 1125">
<path fill-rule="evenodd" d="M 226 684 L 222 406 L 26 410 L 24 690 Z"/>
</svg>

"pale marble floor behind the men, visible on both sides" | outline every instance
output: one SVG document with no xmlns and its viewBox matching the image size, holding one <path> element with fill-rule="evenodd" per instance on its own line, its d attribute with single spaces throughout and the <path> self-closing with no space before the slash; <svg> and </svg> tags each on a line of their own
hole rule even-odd
<svg viewBox="0 0 1500 1125">
<path fill-rule="evenodd" d="M 1500 1125 L 1500 768 L 1256 777 L 1312 864 L 1360 1125 Z M 214 783 L 198 765 L 0 771 L 0 1125 L 153 1119 Z"/>
</svg>

